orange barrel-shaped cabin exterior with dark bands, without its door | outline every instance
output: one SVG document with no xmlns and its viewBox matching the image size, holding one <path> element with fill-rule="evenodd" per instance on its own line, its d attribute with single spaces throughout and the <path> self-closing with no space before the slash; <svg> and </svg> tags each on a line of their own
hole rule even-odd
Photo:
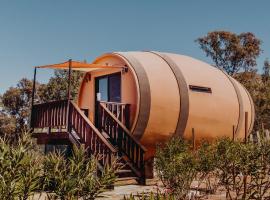
<svg viewBox="0 0 270 200">
<path fill-rule="evenodd" d="M 78 103 L 89 110 L 94 120 L 95 86 L 98 76 L 121 72 L 121 100 L 131 105 L 131 131 L 148 149 L 173 135 L 184 138 L 214 139 L 245 137 L 254 123 L 254 106 L 247 90 L 225 72 L 194 58 L 161 52 L 118 52 L 105 54 L 94 63 L 123 65 L 127 71 L 108 69 L 87 74 L 82 82 Z"/>
</svg>

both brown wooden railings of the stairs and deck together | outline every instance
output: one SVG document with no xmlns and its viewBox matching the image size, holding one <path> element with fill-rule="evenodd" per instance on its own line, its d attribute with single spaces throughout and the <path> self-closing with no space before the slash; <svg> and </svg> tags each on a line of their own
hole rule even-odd
<svg viewBox="0 0 270 200">
<path fill-rule="evenodd" d="M 99 118 L 102 123 L 100 127 L 110 136 L 108 139 L 78 105 L 70 100 L 33 105 L 31 128 L 48 128 L 49 134 L 51 129 L 59 129 L 59 132 L 63 132 L 63 129 L 71 142 L 76 145 L 84 144 L 92 155 L 101 155 L 100 165 L 111 164 L 112 156 L 121 156 L 132 171 L 145 180 L 146 148 L 102 102 L 99 104 L 99 111 L 103 113 Z"/>
</svg>

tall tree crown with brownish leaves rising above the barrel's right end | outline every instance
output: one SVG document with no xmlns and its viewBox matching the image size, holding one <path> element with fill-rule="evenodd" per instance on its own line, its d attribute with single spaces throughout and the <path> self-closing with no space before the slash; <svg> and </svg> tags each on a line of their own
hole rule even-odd
<svg viewBox="0 0 270 200">
<path fill-rule="evenodd" d="M 261 41 L 253 33 L 239 35 L 228 31 L 213 31 L 195 40 L 216 67 L 234 76 L 239 71 L 256 70 L 256 58 L 261 53 Z"/>
</svg>

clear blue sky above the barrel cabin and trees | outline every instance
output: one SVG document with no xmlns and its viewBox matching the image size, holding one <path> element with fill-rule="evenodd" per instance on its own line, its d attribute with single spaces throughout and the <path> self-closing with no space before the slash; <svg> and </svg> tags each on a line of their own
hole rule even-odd
<svg viewBox="0 0 270 200">
<path fill-rule="evenodd" d="M 261 68 L 270 58 L 270 1 L 0 0 L 0 94 L 32 78 L 34 66 L 113 51 L 174 52 L 211 64 L 194 40 L 214 30 L 253 32 L 263 42 Z"/>
</svg>

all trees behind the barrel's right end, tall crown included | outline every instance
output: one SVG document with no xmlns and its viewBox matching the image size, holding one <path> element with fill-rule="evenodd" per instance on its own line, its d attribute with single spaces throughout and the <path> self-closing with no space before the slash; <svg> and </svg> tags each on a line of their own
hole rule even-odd
<svg viewBox="0 0 270 200">
<path fill-rule="evenodd" d="M 270 128 L 270 64 L 265 60 L 262 75 L 257 74 L 256 59 L 262 52 L 261 41 L 253 33 L 239 35 L 227 31 L 213 31 L 196 40 L 214 65 L 226 71 L 249 91 L 255 105 L 254 129 L 262 124 Z"/>
</svg>

